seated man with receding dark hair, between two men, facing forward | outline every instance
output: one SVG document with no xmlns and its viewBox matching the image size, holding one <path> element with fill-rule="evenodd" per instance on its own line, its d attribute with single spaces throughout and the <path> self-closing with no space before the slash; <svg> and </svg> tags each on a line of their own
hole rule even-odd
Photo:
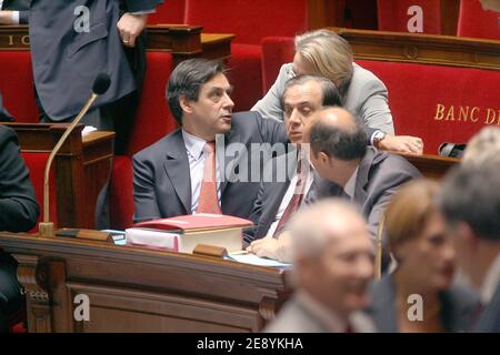
<svg viewBox="0 0 500 355">
<path fill-rule="evenodd" d="M 278 236 L 283 230 L 284 220 L 306 204 L 306 201 L 308 201 L 306 196 L 313 190 L 314 179 L 312 166 L 307 159 L 303 159 L 304 152 L 300 150 L 302 131 L 312 113 L 323 105 L 339 104 L 340 97 L 337 87 L 322 77 L 300 75 L 286 83 L 282 98 L 284 125 L 290 142 L 297 149 L 286 155 L 273 158 L 266 165 L 263 181 L 250 217 L 256 223 L 257 229 L 253 233 L 246 235 L 247 242 L 264 236 Z M 297 164 L 298 158 L 301 158 L 300 170 L 302 178 L 306 179 L 303 191 L 297 191 L 299 182 L 301 182 Z M 276 176 L 273 176 L 274 173 Z M 297 196 L 297 194 L 301 196 Z M 300 199 L 300 201 L 297 202 L 296 199 Z M 290 213 L 290 209 L 294 211 Z M 284 219 L 282 219 L 283 216 Z M 267 241 L 266 243 L 270 242 L 273 241 Z M 258 255 L 260 254 L 259 245 L 261 245 L 261 242 L 256 242 L 250 248 Z"/>
</svg>

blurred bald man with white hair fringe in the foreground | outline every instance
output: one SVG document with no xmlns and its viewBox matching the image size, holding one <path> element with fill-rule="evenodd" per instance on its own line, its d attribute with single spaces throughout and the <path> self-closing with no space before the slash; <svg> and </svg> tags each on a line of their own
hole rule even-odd
<svg viewBox="0 0 500 355">
<path fill-rule="evenodd" d="M 358 312 L 368 305 L 373 276 L 373 244 L 363 217 L 339 199 L 324 200 L 292 217 L 290 235 L 296 293 L 264 331 L 373 332 Z"/>
</svg>

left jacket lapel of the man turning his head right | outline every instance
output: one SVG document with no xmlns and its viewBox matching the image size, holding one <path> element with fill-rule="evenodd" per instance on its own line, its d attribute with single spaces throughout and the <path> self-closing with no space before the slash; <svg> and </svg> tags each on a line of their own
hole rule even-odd
<svg viewBox="0 0 500 355">
<path fill-rule="evenodd" d="M 181 130 L 172 134 L 171 140 L 167 142 L 166 150 L 166 173 L 170 178 L 172 186 L 186 209 L 186 213 L 191 214 L 191 174 Z"/>
</svg>

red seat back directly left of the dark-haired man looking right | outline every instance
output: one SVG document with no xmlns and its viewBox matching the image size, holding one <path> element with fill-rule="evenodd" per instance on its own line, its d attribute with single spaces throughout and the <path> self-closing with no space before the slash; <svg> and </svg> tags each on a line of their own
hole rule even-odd
<svg viewBox="0 0 500 355">
<path fill-rule="evenodd" d="M 177 126 L 167 108 L 166 94 L 167 82 L 173 70 L 172 55 L 166 52 L 148 52 L 147 60 L 148 69 L 142 94 L 127 151 L 130 156 L 151 145 Z"/>
</svg>

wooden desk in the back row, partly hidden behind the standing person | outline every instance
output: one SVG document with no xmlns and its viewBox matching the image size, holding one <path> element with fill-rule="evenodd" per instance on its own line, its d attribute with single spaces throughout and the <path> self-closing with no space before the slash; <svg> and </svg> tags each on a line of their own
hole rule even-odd
<svg viewBox="0 0 500 355">
<path fill-rule="evenodd" d="M 231 41 L 234 34 L 212 34 L 201 31 L 200 26 L 148 26 L 148 50 L 171 52 L 176 63 L 194 57 L 226 60 L 231 55 Z M 28 26 L 0 26 L 0 51 L 29 49 Z"/>
</svg>

